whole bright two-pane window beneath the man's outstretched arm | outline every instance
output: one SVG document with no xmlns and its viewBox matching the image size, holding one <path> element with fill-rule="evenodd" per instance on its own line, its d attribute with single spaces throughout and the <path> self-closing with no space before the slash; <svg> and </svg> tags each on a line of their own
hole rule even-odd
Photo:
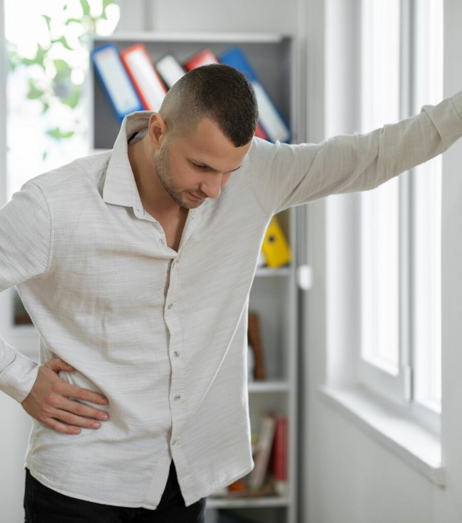
<svg viewBox="0 0 462 523">
<path fill-rule="evenodd" d="M 443 0 L 363 0 L 362 130 L 443 99 Z M 441 157 L 360 194 L 359 380 L 438 431 Z"/>
</svg>

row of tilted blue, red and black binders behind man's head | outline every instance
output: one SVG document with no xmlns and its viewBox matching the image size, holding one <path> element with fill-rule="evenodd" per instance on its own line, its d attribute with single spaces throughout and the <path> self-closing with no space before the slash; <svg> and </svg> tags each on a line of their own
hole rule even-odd
<svg viewBox="0 0 462 523">
<path fill-rule="evenodd" d="M 271 142 L 289 142 L 291 139 L 287 123 L 239 47 L 220 56 L 216 56 L 211 49 L 203 49 L 181 63 L 172 53 L 153 62 L 143 43 L 120 52 L 114 44 L 108 43 L 95 48 L 91 58 L 120 121 L 134 111 L 158 111 L 168 89 L 188 71 L 201 65 L 224 63 L 241 71 L 252 83 L 259 113 L 255 136 Z"/>
</svg>

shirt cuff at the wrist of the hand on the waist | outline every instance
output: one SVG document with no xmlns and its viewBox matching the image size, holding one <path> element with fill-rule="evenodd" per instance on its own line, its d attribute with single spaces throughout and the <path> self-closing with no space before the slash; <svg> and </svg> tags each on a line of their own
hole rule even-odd
<svg viewBox="0 0 462 523">
<path fill-rule="evenodd" d="M 5 344 L 8 346 L 8 344 Z M 11 396 L 14 400 L 22 403 L 35 383 L 39 373 L 39 363 L 31 360 L 24 354 L 8 346 L 10 350 L 16 351 L 15 359 L 0 372 L 0 390 Z"/>
</svg>

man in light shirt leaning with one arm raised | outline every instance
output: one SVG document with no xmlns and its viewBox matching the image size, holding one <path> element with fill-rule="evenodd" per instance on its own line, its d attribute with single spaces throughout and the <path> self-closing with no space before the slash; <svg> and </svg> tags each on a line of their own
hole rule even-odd
<svg viewBox="0 0 462 523">
<path fill-rule="evenodd" d="M 41 365 L 0 338 L 0 389 L 33 418 L 26 521 L 203 521 L 254 465 L 247 312 L 272 215 L 429 160 L 461 114 L 458 93 L 369 134 L 272 144 L 245 76 L 208 65 L 126 117 L 112 151 L 24 184 L 0 210 L 0 290 L 17 285 Z"/>
</svg>

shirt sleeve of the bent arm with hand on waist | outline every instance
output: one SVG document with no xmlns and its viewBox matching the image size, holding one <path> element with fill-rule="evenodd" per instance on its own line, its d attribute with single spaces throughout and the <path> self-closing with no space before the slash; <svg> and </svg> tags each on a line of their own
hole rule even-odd
<svg viewBox="0 0 462 523">
<path fill-rule="evenodd" d="M 49 267 L 51 216 L 42 190 L 30 181 L 0 208 L 0 292 L 44 274 Z M 0 390 L 21 403 L 39 364 L 0 336 Z"/>
</svg>

